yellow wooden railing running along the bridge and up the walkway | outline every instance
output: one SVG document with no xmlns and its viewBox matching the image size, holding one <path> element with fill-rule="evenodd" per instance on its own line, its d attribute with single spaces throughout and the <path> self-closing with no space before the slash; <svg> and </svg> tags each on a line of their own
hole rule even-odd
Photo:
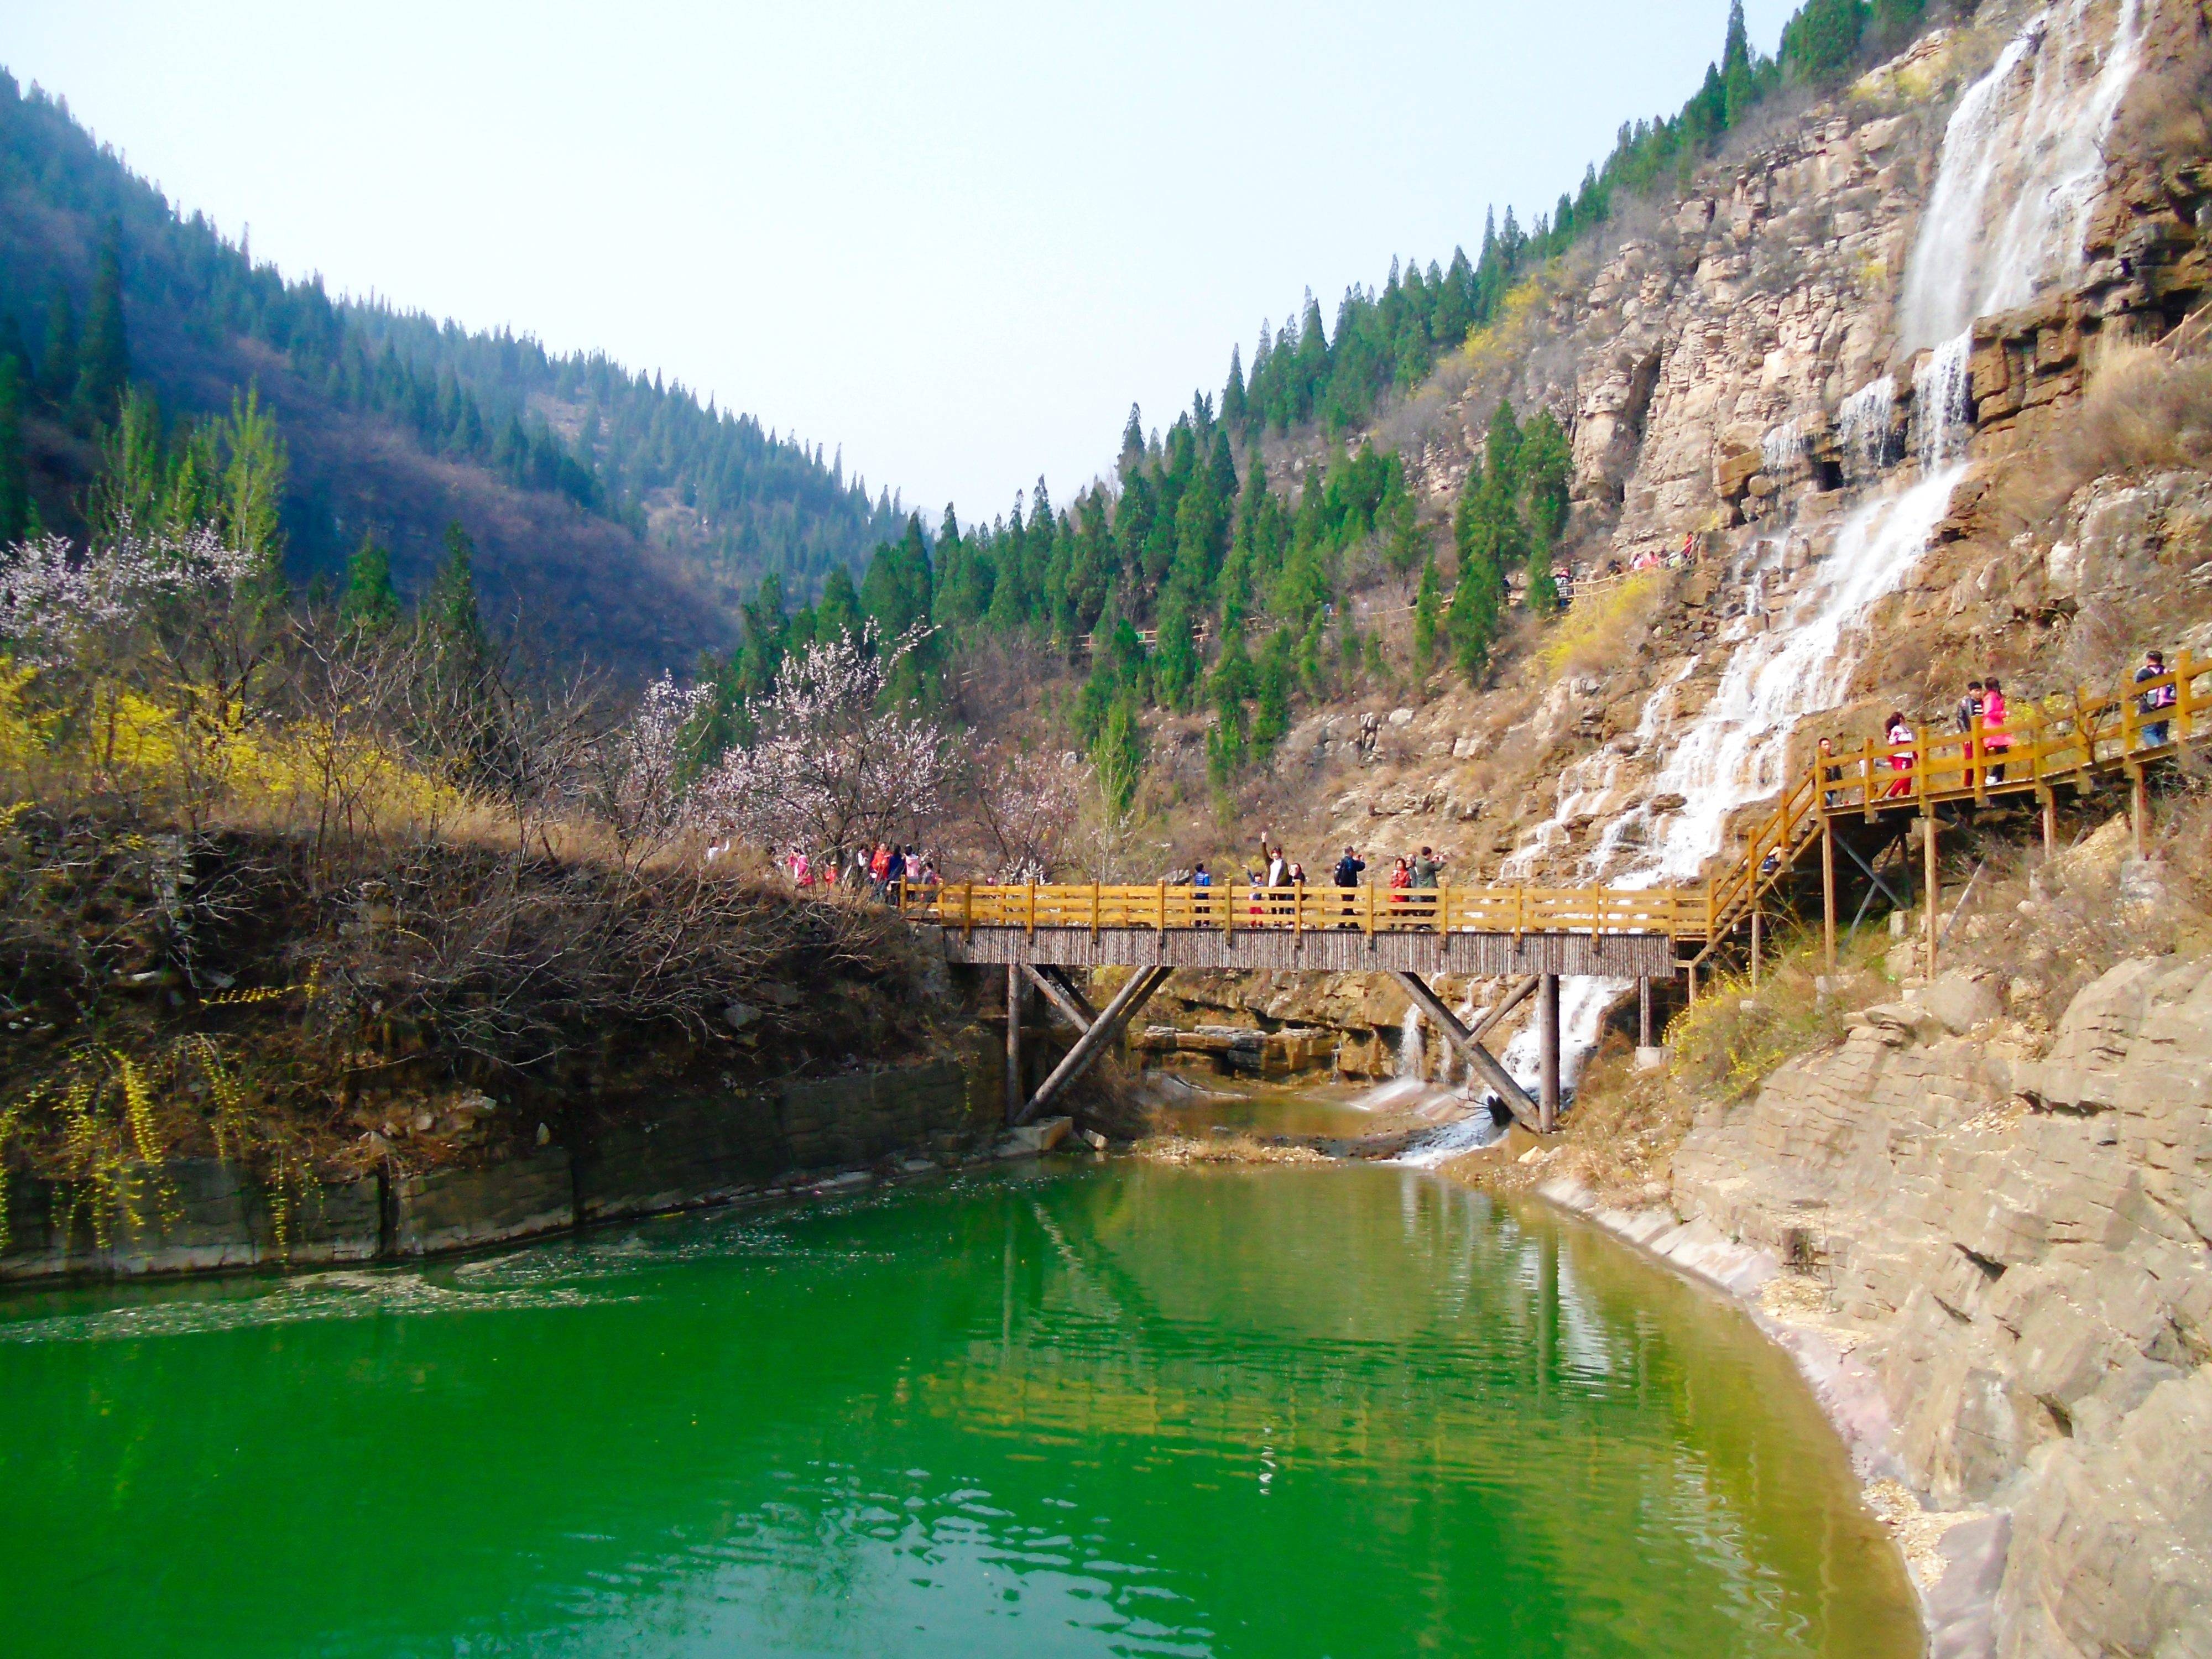
<svg viewBox="0 0 2212 1659">
<path fill-rule="evenodd" d="M 1885 812 L 1931 812 L 1949 801 L 1986 803 L 2062 783 L 2086 792 L 2099 774 L 2139 772 L 2181 745 L 2212 737 L 2212 692 L 2197 681 L 2212 664 L 2181 653 L 2170 672 L 2119 690 L 2024 699 L 2002 726 L 1909 743 L 1865 743 L 1814 759 L 1747 832 L 1741 856 L 1701 887 L 1141 887 L 1102 883 L 953 883 L 907 887 L 898 907 L 938 927 L 1245 929 L 1360 933 L 1666 933 L 1712 947 L 1759 909 L 1820 836 L 1825 823 Z M 2146 695 L 2172 692 L 2143 710 Z M 2146 737 L 2163 726 L 2159 743 Z M 2150 728 L 2150 730 L 2146 730 Z"/>
</svg>

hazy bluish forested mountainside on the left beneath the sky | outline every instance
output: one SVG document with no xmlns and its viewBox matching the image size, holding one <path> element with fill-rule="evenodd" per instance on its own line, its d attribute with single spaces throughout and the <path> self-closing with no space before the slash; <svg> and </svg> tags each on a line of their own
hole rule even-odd
<svg viewBox="0 0 2212 1659">
<path fill-rule="evenodd" d="M 604 659 L 684 661 L 763 575 L 814 591 L 898 531 L 818 447 L 681 385 L 288 281 L 4 73 L 0 361 L 9 540 L 29 507 L 80 524 L 126 385 L 168 427 L 259 387 L 290 449 L 296 577 L 376 535 L 420 586 L 458 518 L 495 608 Z"/>
</svg>

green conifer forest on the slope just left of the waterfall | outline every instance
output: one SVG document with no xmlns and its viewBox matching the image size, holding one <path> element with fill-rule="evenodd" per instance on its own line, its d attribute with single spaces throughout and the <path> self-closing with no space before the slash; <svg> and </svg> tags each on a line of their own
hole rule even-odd
<svg viewBox="0 0 2212 1659">
<path fill-rule="evenodd" d="M 1263 325 L 1250 365 L 1232 349 L 1221 392 L 1197 394 L 1166 434 L 1130 409 L 1110 478 L 1066 507 L 1040 478 L 989 524 L 947 513 L 929 535 L 911 520 L 876 549 L 858 593 L 838 584 L 821 608 L 792 615 L 781 584 L 763 588 L 723 675 L 726 712 L 761 695 L 787 650 L 863 613 L 887 635 L 936 628 L 911 659 L 918 672 L 1029 641 L 1037 661 L 1086 675 L 1066 703 L 1068 737 L 1102 776 L 1126 781 L 1128 805 L 1148 710 L 1206 710 L 1206 770 L 1228 790 L 1270 759 L 1301 699 L 1442 668 L 1480 681 L 1513 604 L 1557 608 L 1566 431 L 1553 409 L 1484 409 L 1480 458 L 1455 500 L 1433 504 L 1407 458 L 1374 438 L 1383 411 L 1533 305 L 1535 279 L 1621 204 L 1672 195 L 1763 104 L 1805 97 L 1907 40 L 1922 11 L 1922 0 L 1807 0 L 1767 58 L 1739 0 L 1697 93 L 1672 115 L 1624 122 L 1610 155 L 1533 226 L 1509 208 L 1473 259 L 1458 248 L 1449 263 L 1394 261 L 1380 290 L 1345 292 L 1334 323 L 1307 294 L 1281 332 Z M 1579 533 L 1597 529 L 1577 520 Z M 1411 626 L 1391 641 L 1363 630 L 1356 597 L 1402 599 L 1383 608 L 1409 611 Z"/>
</svg>

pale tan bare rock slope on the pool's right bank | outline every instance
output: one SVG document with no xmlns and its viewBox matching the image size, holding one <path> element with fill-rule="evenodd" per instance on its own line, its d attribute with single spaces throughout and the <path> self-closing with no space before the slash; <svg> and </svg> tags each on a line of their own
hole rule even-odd
<svg viewBox="0 0 2212 1659">
<path fill-rule="evenodd" d="M 1854 1015 L 1690 1133 L 1674 1214 L 1781 1270 L 1989 1544 L 1936 1652 L 2212 1652 L 2212 960 L 2124 962 L 2046 1053 L 1995 1013 Z"/>
</svg>

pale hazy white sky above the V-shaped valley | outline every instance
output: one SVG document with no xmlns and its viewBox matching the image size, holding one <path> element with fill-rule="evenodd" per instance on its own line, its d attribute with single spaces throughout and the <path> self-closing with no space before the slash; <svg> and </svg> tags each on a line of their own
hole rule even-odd
<svg viewBox="0 0 2212 1659">
<path fill-rule="evenodd" d="M 1750 0 L 1772 51 L 1794 0 Z M 511 323 L 845 449 L 933 518 L 1055 498 L 1312 285 L 1475 250 L 1725 0 L 97 4 L 0 62 L 332 290 Z"/>
</svg>

